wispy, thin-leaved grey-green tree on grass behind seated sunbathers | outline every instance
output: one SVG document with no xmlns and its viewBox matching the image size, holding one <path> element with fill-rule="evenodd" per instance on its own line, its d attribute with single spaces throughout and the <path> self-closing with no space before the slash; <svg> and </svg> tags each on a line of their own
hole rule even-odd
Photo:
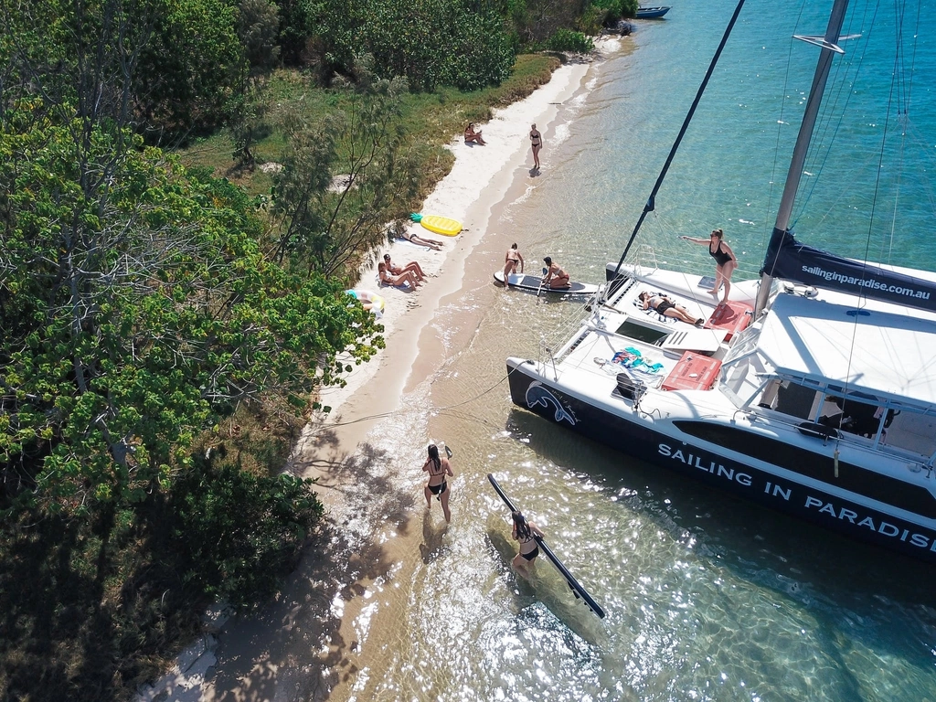
<svg viewBox="0 0 936 702">
<path fill-rule="evenodd" d="M 334 93 L 340 110 L 296 125 L 276 178 L 273 256 L 295 268 L 353 271 L 417 193 L 417 163 L 402 129 L 405 80 L 370 80 L 363 67 L 358 73 L 357 87 Z"/>
</svg>

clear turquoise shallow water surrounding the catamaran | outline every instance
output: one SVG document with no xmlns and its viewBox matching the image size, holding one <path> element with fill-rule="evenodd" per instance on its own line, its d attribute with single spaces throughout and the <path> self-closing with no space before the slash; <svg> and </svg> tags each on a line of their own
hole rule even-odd
<svg viewBox="0 0 936 702">
<path fill-rule="evenodd" d="M 708 270 L 704 249 L 676 237 L 724 227 L 741 259 L 739 277 L 756 274 L 816 55 L 789 37 L 825 31 L 827 3 L 808 5 L 798 23 L 797 7 L 784 3 L 750 3 L 742 12 L 648 218 L 643 241 L 653 243 L 661 265 Z M 543 175 L 518 184 L 477 259 L 502 260 L 509 241 L 518 241 L 534 267 L 552 254 L 567 270 L 600 280 L 607 260 L 620 255 L 733 7 L 725 0 L 677 5 L 665 22 L 639 24 L 636 51 L 595 66 L 587 89 L 564 106 L 561 128 L 544 131 Z M 886 31 L 894 7 L 856 7 L 853 16 L 875 11 L 881 26 L 870 35 L 846 24 L 849 33 L 864 32 L 847 48 L 865 56 L 858 81 L 871 67 L 879 76 L 830 91 L 840 106 L 849 101 L 852 114 L 820 128 L 826 147 L 836 132 L 836 150 L 817 152 L 806 168 L 812 176 L 804 180 L 797 233 L 845 255 L 867 251 L 932 270 L 934 198 L 926 180 L 936 145 L 929 87 L 936 18 L 932 11 L 918 24 L 911 18 L 908 33 L 920 40 L 908 136 L 901 139 L 894 116 L 882 148 L 888 103 L 897 111 Z M 788 69 L 791 54 L 796 68 Z M 848 61 L 855 80 L 859 58 Z M 901 160 L 899 207 L 881 205 L 869 226 L 874 173 L 882 172 L 883 202 L 896 192 Z M 484 285 L 438 315 L 448 363 L 406 402 L 419 419 L 402 413 L 399 426 L 374 441 L 418 465 L 423 432 L 445 437 L 458 473 L 454 519 L 445 530 L 434 503 L 417 518 L 421 559 L 395 584 L 406 604 L 402 620 L 372 654 L 353 696 L 936 699 L 931 567 L 683 481 L 511 404 L 505 357 L 535 357 L 540 338 L 561 337 L 576 313 L 569 302 Z M 470 340 L 453 341 L 448 329 L 465 319 L 476 323 Z M 427 406 L 436 409 L 427 413 Z M 547 533 L 607 619 L 579 604 L 543 559 L 530 582 L 512 571 L 508 514 L 488 473 Z M 419 505 L 418 470 L 396 479 Z"/>
</svg>

